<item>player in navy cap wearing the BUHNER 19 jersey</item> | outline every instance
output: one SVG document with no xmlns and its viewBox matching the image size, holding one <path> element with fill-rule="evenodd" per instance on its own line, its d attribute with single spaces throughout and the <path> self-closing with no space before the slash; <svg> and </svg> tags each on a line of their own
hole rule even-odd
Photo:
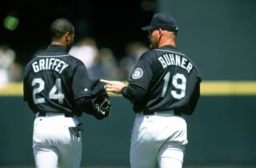
<svg viewBox="0 0 256 168">
<path fill-rule="evenodd" d="M 107 91 L 122 94 L 137 113 L 133 124 L 132 168 L 182 167 L 187 123 L 200 96 L 201 75 L 195 63 L 175 47 L 177 22 L 167 13 L 153 16 L 148 30 L 151 51 L 135 65 L 129 84 L 101 80 Z"/>
</svg>

